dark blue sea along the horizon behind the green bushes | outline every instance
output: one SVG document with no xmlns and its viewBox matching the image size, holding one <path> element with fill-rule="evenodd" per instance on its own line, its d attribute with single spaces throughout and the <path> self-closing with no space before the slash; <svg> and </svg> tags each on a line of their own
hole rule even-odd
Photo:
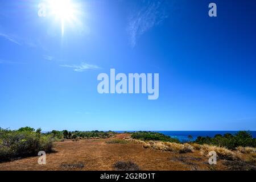
<svg viewBox="0 0 256 182">
<path fill-rule="evenodd" d="M 122 133 L 123 131 L 117 131 Z M 216 134 L 236 134 L 238 131 L 155 131 L 158 133 L 162 133 L 164 135 L 168 135 L 172 138 L 177 138 L 181 142 L 188 141 L 188 135 L 191 135 L 193 137 L 192 140 L 195 140 L 197 137 L 214 137 Z M 256 138 L 256 131 L 249 131 L 253 138 Z"/>
</svg>

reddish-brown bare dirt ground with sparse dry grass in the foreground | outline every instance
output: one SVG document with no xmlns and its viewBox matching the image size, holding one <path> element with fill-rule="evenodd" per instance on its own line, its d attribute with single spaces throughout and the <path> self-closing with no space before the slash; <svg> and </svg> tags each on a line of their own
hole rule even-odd
<svg viewBox="0 0 256 182">
<path fill-rule="evenodd" d="M 122 139 L 129 134 L 118 134 Z M 108 139 L 81 139 L 56 142 L 46 165 L 38 164 L 38 156 L 0 163 L 0 170 L 115 170 L 118 161 L 131 161 L 141 170 L 227 170 L 225 160 L 210 166 L 200 151 L 187 154 L 143 148 L 133 142 L 108 143 Z"/>
</svg>

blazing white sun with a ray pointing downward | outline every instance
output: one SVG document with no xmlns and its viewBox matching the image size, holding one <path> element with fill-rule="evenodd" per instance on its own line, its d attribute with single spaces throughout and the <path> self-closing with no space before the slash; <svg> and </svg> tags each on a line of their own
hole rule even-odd
<svg viewBox="0 0 256 182">
<path fill-rule="evenodd" d="M 61 21 L 61 34 L 64 35 L 65 23 L 74 22 L 77 17 L 76 5 L 72 0 L 49 0 L 49 9 Z"/>
</svg>

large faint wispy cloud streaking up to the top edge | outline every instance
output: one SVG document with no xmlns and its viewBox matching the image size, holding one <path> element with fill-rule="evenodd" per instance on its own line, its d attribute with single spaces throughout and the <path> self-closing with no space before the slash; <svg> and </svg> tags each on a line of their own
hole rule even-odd
<svg viewBox="0 0 256 182">
<path fill-rule="evenodd" d="M 146 1 L 146 5 L 129 18 L 127 30 L 130 35 L 131 46 L 134 47 L 136 45 L 139 36 L 157 26 L 167 17 L 164 2 Z"/>
</svg>

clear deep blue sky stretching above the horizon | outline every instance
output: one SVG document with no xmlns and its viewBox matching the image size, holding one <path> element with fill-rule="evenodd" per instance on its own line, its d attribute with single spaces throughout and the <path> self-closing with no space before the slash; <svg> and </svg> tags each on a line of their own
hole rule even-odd
<svg viewBox="0 0 256 182">
<path fill-rule="evenodd" d="M 255 1 L 71 1 L 63 35 L 44 1 L 0 2 L 1 127 L 256 130 Z M 99 94 L 110 68 L 159 73 L 158 100 Z"/>
</svg>

